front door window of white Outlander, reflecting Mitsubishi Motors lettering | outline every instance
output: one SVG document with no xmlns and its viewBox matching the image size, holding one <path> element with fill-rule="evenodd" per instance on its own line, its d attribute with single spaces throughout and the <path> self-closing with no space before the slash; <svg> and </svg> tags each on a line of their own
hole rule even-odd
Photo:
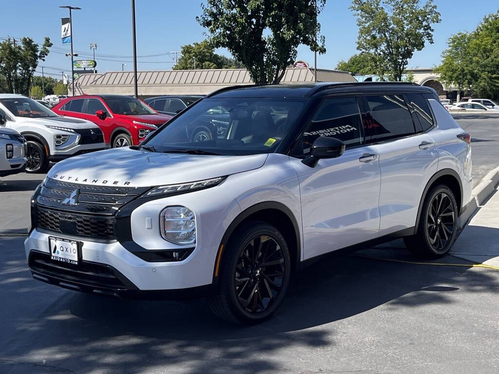
<svg viewBox="0 0 499 374">
<path fill-rule="evenodd" d="M 346 148 L 363 143 L 362 119 L 356 97 L 324 99 L 292 153 L 307 155 L 320 136 L 337 138 L 345 143 Z"/>
</svg>

